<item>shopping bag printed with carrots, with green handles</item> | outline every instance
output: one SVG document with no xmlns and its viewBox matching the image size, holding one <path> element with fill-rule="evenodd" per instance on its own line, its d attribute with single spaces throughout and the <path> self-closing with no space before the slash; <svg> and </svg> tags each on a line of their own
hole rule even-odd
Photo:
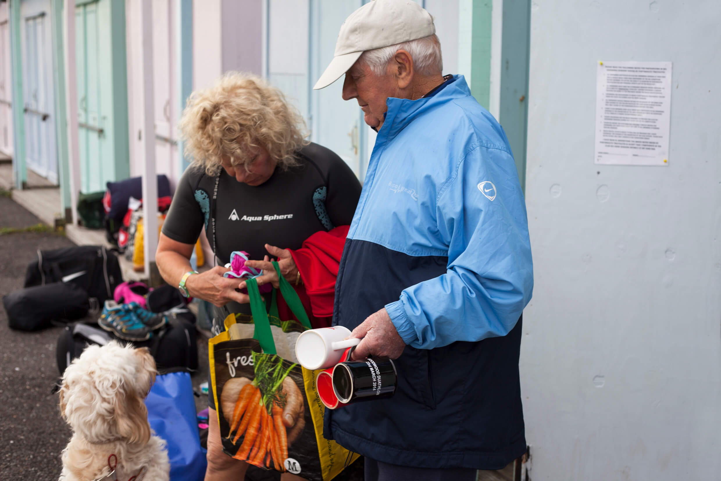
<svg viewBox="0 0 721 481">
<path fill-rule="evenodd" d="M 295 343 L 311 325 L 301 300 L 283 278 L 280 294 L 299 319 L 278 318 L 273 290 L 270 317 L 255 279 L 247 279 L 252 316 L 231 314 L 226 330 L 210 340 L 211 387 L 223 449 L 229 456 L 265 469 L 329 481 L 358 454 L 323 438 L 324 405 L 315 373 L 297 363 Z M 296 420 L 283 423 L 288 408 Z"/>
</svg>

